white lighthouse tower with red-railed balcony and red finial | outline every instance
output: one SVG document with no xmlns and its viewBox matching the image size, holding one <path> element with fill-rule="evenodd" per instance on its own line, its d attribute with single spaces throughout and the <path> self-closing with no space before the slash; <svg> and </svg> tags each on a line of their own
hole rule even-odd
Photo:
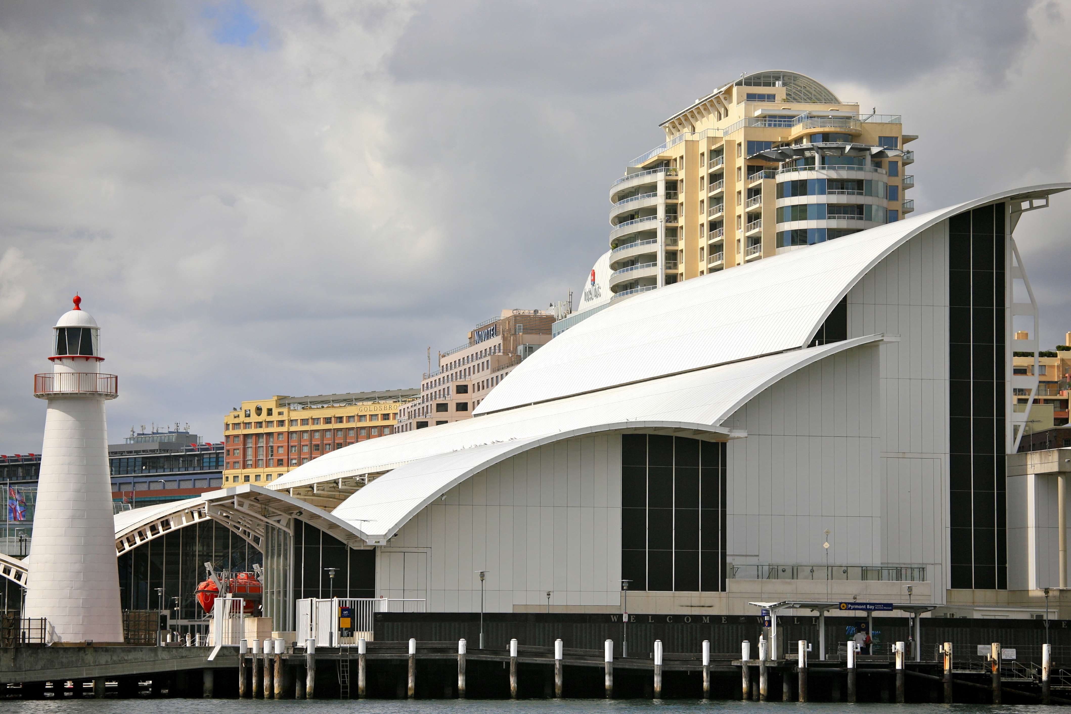
<svg viewBox="0 0 1071 714">
<path fill-rule="evenodd" d="M 48 414 L 22 617 L 46 618 L 54 641 L 122 642 L 104 416 L 118 378 L 101 373 L 101 331 L 80 303 L 56 323 L 52 371 L 33 379 Z"/>
</svg>

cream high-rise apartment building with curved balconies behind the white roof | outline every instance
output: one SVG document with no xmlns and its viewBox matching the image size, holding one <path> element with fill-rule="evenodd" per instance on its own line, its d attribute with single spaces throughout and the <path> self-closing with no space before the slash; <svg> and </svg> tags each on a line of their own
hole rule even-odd
<svg viewBox="0 0 1071 714">
<path fill-rule="evenodd" d="M 743 76 L 662 123 L 609 191 L 614 299 L 897 221 L 901 118 L 794 72 Z"/>
</svg>

